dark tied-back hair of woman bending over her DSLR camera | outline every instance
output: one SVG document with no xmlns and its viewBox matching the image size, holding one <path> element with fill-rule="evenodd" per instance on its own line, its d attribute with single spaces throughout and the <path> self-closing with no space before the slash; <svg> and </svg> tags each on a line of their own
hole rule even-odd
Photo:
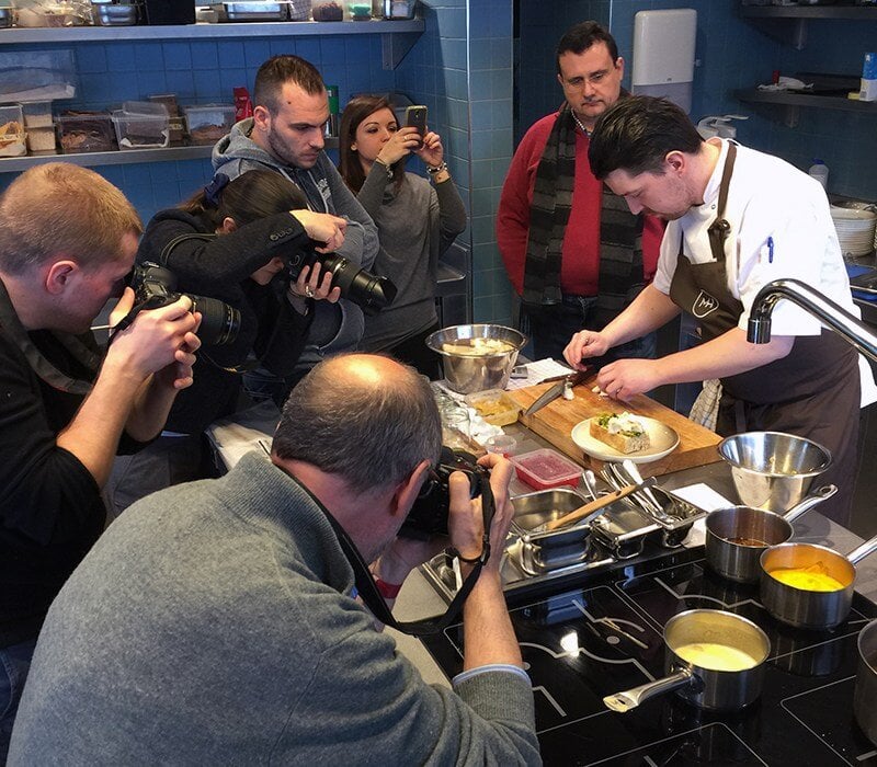
<svg viewBox="0 0 877 767">
<path fill-rule="evenodd" d="M 180 208 L 193 216 L 206 218 L 217 229 L 226 218 L 238 226 L 284 210 L 307 208 L 305 193 L 276 171 L 247 171 L 228 181 L 221 174 L 201 190 Z"/>
</svg>

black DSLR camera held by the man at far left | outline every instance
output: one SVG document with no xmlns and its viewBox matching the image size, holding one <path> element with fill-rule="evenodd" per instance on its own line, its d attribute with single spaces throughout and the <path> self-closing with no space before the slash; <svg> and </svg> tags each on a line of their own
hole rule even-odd
<svg viewBox="0 0 877 767">
<path fill-rule="evenodd" d="M 201 312 L 198 339 L 206 346 L 221 346 L 234 343 L 240 331 L 240 311 L 218 298 L 194 296 L 191 293 L 176 293 L 176 275 L 151 261 L 136 264 L 132 282 L 135 305 L 123 320 L 129 324 L 137 312 L 144 309 L 159 309 L 173 304 L 180 296 L 192 301 L 190 311 Z"/>
</svg>

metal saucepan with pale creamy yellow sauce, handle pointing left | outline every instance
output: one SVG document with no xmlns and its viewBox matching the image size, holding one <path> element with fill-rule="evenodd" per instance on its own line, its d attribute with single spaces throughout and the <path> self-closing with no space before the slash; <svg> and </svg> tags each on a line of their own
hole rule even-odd
<svg viewBox="0 0 877 767">
<path fill-rule="evenodd" d="M 764 680 L 771 640 L 755 623 L 724 610 L 686 610 L 664 626 L 668 676 L 603 698 L 613 711 L 676 690 L 710 711 L 737 711 L 753 702 Z"/>
</svg>

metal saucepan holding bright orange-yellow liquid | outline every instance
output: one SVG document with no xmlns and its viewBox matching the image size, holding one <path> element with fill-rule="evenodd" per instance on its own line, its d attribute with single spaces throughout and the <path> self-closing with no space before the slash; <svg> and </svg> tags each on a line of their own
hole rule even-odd
<svg viewBox="0 0 877 767">
<path fill-rule="evenodd" d="M 795 628 L 833 628 L 844 621 L 853 604 L 853 565 L 875 549 L 877 536 L 846 557 L 816 543 L 772 546 L 761 556 L 761 603 L 774 618 Z"/>
</svg>

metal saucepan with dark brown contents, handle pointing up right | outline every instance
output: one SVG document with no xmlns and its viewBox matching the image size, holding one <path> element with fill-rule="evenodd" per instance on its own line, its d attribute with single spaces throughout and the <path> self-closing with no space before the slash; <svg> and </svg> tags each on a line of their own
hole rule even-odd
<svg viewBox="0 0 877 767">
<path fill-rule="evenodd" d="M 706 518 L 707 564 L 737 583 L 758 583 L 762 552 L 789 540 L 795 534 L 791 522 L 836 492 L 836 485 L 828 484 L 785 514 L 753 506 L 729 506 L 710 512 Z"/>
</svg>

